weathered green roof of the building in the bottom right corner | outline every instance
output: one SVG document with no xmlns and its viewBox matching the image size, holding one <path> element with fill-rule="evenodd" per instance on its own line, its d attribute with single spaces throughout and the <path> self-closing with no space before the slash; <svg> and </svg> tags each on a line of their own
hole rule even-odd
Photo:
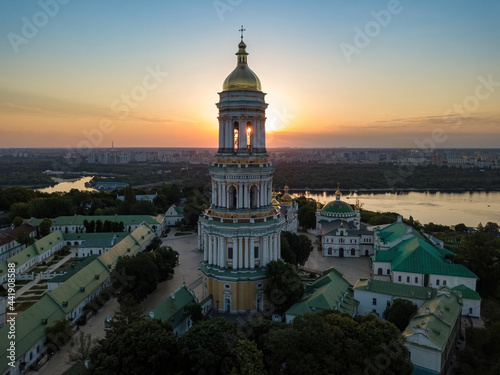
<svg viewBox="0 0 500 375">
<path fill-rule="evenodd" d="M 460 319 L 461 311 L 462 306 L 455 293 L 430 299 L 418 309 L 404 330 L 403 336 L 408 339 L 414 334 L 423 334 L 443 352 L 457 319 Z M 425 333 L 415 332 L 415 328 L 421 328 Z"/>
</svg>

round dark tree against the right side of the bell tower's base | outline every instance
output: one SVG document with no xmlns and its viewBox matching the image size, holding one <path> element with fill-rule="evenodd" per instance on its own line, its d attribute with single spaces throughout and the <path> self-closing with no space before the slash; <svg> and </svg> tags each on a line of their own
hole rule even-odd
<svg viewBox="0 0 500 375">
<path fill-rule="evenodd" d="M 273 260 L 266 266 L 266 275 L 266 293 L 280 311 L 286 311 L 304 294 L 304 284 L 292 264 Z"/>
</svg>

